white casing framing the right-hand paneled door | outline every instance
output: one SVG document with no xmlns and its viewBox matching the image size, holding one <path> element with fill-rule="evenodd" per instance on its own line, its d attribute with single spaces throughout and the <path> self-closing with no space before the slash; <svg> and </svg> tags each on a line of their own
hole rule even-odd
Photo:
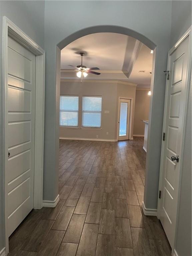
<svg viewBox="0 0 192 256">
<path fill-rule="evenodd" d="M 186 114 L 187 114 L 187 103 L 189 100 L 189 89 L 190 89 L 190 68 L 191 68 L 191 29 L 192 26 L 187 30 L 187 32 L 178 40 L 178 42 L 169 50 L 168 52 L 168 62 L 167 62 L 167 68 L 169 70 L 170 66 L 170 55 L 183 43 L 183 41 L 189 37 L 189 60 L 188 60 L 188 71 L 187 71 L 187 80 L 186 80 L 186 92 L 185 92 L 185 103 L 184 103 L 184 116 L 182 120 L 182 138 L 181 138 L 181 155 L 179 156 L 180 166 L 182 169 L 182 162 L 183 162 L 183 148 L 184 148 L 184 138 L 185 138 L 185 126 L 186 126 Z M 165 125 L 166 125 L 166 111 L 167 111 L 167 96 L 168 96 L 168 83 L 166 80 L 166 89 L 165 89 L 165 106 L 164 106 L 164 119 L 163 119 L 163 132 L 165 131 Z M 165 151 L 165 143 L 162 142 L 161 147 L 161 162 L 160 162 L 160 172 L 159 172 L 159 190 L 162 190 L 162 182 L 163 182 L 163 156 Z M 175 227 L 175 233 L 174 233 L 174 240 L 176 237 L 176 230 L 177 230 L 177 222 L 178 222 L 178 210 L 179 210 L 179 198 L 180 198 L 180 184 L 181 184 L 181 170 L 180 170 L 180 177 L 179 177 L 179 190 L 178 190 L 178 201 L 177 201 L 177 212 L 176 212 L 176 227 Z M 157 218 L 160 218 L 160 200 L 158 198 L 158 206 L 157 206 Z M 175 242 L 174 245 L 171 245 L 172 247 L 172 253 L 174 252 L 175 248 Z"/>
</svg>

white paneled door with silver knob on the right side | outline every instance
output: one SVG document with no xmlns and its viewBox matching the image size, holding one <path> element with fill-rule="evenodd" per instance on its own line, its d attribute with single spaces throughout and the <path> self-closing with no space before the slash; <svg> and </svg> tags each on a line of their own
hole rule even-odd
<svg viewBox="0 0 192 256">
<path fill-rule="evenodd" d="M 162 143 L 161 199 L 158 210 L 160 221 L 173 248 L 181 171 L 181 159 L 179 159 L 179 156 L 182 154 L 181 144 L 189 63 L 189 37 L 169 55 L 168 63 L 170 74 L 166 87 L 165 141 Z"/>
</svg>

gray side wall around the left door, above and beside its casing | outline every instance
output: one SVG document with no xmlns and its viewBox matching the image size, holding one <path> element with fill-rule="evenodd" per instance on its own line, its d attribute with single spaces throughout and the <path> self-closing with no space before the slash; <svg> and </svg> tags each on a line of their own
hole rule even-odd
<svg viewBox="0 0 192 256">
<path fill-rule="evenodd" d="M 44 1 L 0 1 L 0 45 L 2 45 L 3 16 L 7 16 L 31 39 L 44 48 Z M 2 50 L 2 49 L 1 49 Z M 2 52 L 0 54 L 2 56 Z M 2 59 L 0 70 L 2 77 Z M 0 251 L 4 241 L 4 194 L 3 194 L 3 138 L 2 138 L 2 80 L 0 87 Z M 6 154 L 7 157 L 7 154 Z"/>
</svg>

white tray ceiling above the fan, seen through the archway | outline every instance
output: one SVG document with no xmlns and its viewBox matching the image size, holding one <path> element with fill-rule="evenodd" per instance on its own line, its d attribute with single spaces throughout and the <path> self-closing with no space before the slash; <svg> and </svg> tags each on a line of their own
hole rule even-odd
<svg viewBox="0 0 192 256">
<path fill-rule="evenodd" d="M 103 71 L 99 76 L 88 74 L 86 79 L 117 79 L 136 83 L 138 87 L 150 87 L 149 72 L 152 69 L 153 54 L 147 46 L 133 37 L 116 33 L 96 33 L 75 40 L 61 50 L 61 69 L 65 70 L 62 78 L 76 78 L 68 65 L 81 64 L 79 52 L 85 52 L 83 65 L 98 67 Z M 139 73 L 140 70 L 145 70 L 145 73 Z"/>
</svg>

